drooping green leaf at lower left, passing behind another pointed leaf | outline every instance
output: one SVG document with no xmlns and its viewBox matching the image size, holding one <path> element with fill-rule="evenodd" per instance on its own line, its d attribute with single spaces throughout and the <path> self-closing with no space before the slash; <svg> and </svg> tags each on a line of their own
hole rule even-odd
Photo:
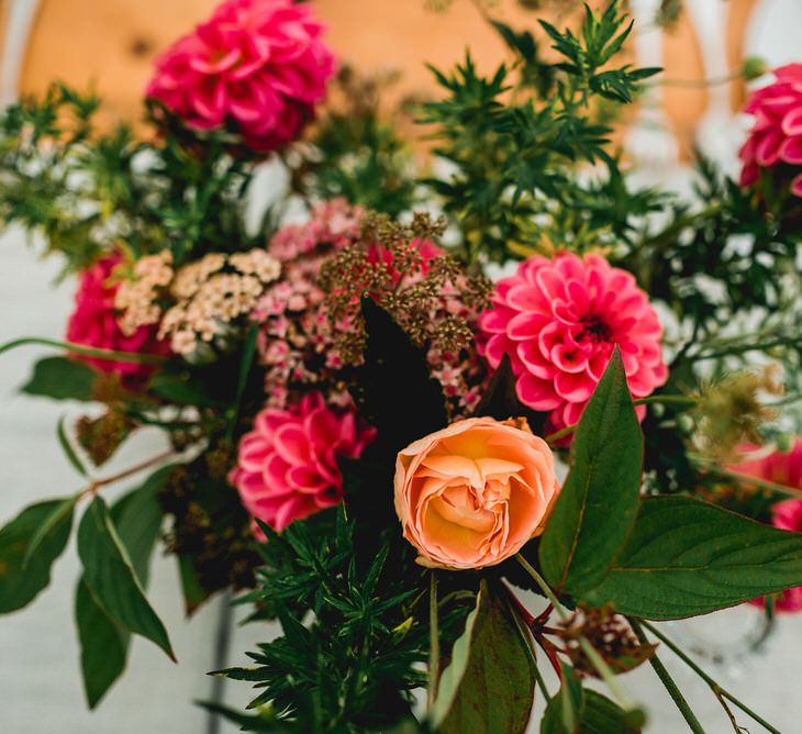
<svg viewBox="0 0 802 734">
<path fill-rule="evenodd" d="M 164 515 L 158 491 L 172 470 L 166 466 L 141 487 L 123 494 L 111 509 L 111 519 L 142 586 L 147 586 L 149 561 Z M 78 582 L 75 619 L 80 643 L 80 666 L 89 708 L 93 709 L 125 670 L 130 633 L 94 600 L 83 578 Z"/>
</svg>

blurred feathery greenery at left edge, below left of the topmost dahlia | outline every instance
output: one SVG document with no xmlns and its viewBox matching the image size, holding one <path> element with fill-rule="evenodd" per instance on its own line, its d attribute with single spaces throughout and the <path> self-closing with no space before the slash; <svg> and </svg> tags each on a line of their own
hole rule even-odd
<svg viewBox="0 0 802 734">
<path fill-rule="evenodd" d="M 188 140 L 174 130 L 143 142 L 126 125 L 101 132 L 99 107 L 54 84 L 0 114 L 0 222 L 42 233 L 66 270 L 123 242 L 134 256 L 168 248 L 180 265 L 265 241 L 244 226 L 254 167 L 230 154 L 223 133 Z"/>
</svg>

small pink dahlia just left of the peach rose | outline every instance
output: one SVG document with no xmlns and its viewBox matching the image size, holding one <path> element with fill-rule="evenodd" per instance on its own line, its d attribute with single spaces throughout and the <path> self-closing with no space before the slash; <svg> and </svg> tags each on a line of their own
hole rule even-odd
<svg viewBox="0 0 802 734">
<path fill-rule="evenodd" d="M 375 436 L 353 410 L 334 411 L 320 392 L 291 410 L 266 408 L 240 442 L 230 480 L 243 504 L 277 531 L 343 499 L 339 457 L 357 458 Z"/>
</svg>

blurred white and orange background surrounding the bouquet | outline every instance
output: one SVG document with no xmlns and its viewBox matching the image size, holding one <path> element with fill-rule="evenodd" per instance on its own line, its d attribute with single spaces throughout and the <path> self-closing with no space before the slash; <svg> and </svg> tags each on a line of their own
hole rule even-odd
<svg viewBox="0 0 802 734">
<path fill-rule="evenodd" d="M 135 121 L 152 60 L 176 36 L 204 19 L 214 0 L 0 0 L 0 103 L 43 92 L 62 79 L 104 99 L 108 122 Z M 387 109 L 408 98 L 434 93 L 423 63 L 448 68 L 470 47 L 480 68 L 503 57 L 501 41 L 482 18 L 491 13 L 513 27 L 532 27 L 536 16 L 569 22 L 573 0 L 314 0 L 330 25 L 328 40 L 341 59 L 364 73 L 399 73 L 387 90 Z M 630 0 L 637 23 L 632 46 L 642 66 L 665 67 L 654 87 L 622 124 L 620 140 L 637 175 L 675 188 L 688 187 L 694 146 L 735 169 L 745 122 L 737 110 L 746 87 L 738 71 L 746 59 L 769 68 L 802 60 L 802 0 Z M 662 15 L 659 15 L 662 13 Z M 661 16 L 664 23 L 656 23 Z M 708 85 L 705 80 L 719 84 Z M 266 188 L 276 186 L 270 175 Z M 74 283 L 54 283 L 58 263 L 37 260 L 25 234 L 0 238 L 0 343 L 36 334 L 62 337 Z M 64 405 L 20 396 L 34 349 L 0 357 L 0 523 L 22 505 L 79 488 L 55 440 Z M 69 414 L 69 408 L 66 409 Z M 127 466 L 152 451 L 157 436 L 130 442 L 114 465 Z M 152 452 L 153 453 L 153 452 Z M 113 474 L 114 465 L 107 471 Z M 71 483 L 75 483 L 74 487 Z M 234 731 L 213 723 L 193 699 L 248 699 L 246 683 L 222 687 L 204 676 L 266 641 L 269 625 L 238 627 L 223 601 L 183 619 L 171 558 L 157 558 L 151 598 L 170 631 L 179 665 L 136 640 L 130 669 L 98 711 L 86 710 L 78 674 L 73 589 L 78 560 L 69 549 L 54 569 L 52 587 L 32 608 L 0 620 L 0 732 L 58 731 L 64 734 L 182 734 Z M 802 618 L 781 618 L 754 652 L 759 618 L 737 609 L 672 632 L 698 648 L 714 677 L 742 694 L 780 731 L 800 731 L 798 665 Z M 226 636 L 231 636 L 226 645 Z M 672 663 L 670 655 L 665 655 Z M 690 672 L 670 666 L 710 732 L 732 731 L 717 702 Z M 648 731 L 686 731 L 651 670 L 624 678 L 633 698 L 654 712 Z M 749 731 L 757 724 L 745 719 Z"/>
</svg>

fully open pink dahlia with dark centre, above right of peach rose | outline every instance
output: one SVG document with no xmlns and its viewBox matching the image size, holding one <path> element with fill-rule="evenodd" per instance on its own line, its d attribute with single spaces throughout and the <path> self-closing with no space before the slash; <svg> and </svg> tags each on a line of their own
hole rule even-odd
<svg viewBox="0 0 802 734">
<path fill-rule="evenodd" d="M 519 398 L 548 411 L 553 430 L 579 420 L 615 345 L 633 397 L 668 377 L 646 293 L 603 257 L 531 257 L 498 282 L 492 303 L 479 319 L 481 354 L 493 368 L 510 355 Z"/>
</svg>

